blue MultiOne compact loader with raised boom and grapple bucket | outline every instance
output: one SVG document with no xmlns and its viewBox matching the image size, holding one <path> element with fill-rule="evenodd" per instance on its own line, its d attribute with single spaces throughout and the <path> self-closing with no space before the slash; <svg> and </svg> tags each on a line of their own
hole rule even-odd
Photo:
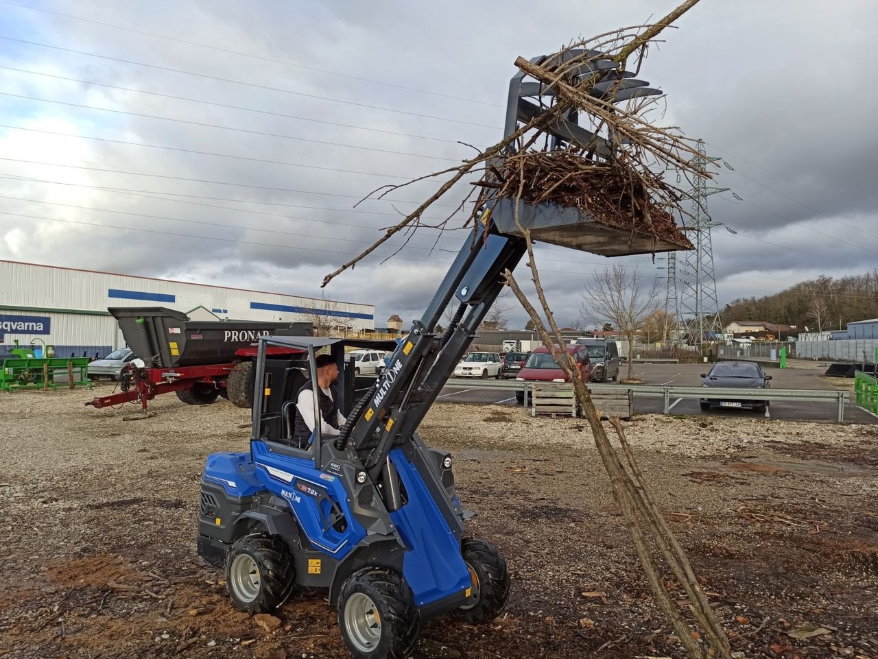
<svg viewBox="0 0 878 659">
<path fill-rule="evenodd" d="M 571 50 L 577 75 L 613 102 L 658 94 L 601 53 Z M 545 58 L 534 61 L 542 63 Z M 538 117 L 556 92 L 512 80 L 506 134 Z M 529 97 L 534 100 L 529 100 Z M 584 149 L 611 159 L 619 148 L 579 125 L 575 112 L 544 122 L 547 149 Z M 338 612 L 342 639 L 358 659 L 401 659 L 423 620 L 450 613 L 471 624 L 493 620 L 507 602 L 509 572 L 488 541 L 466 534 L 469 516 L 455 492 L 452 456 L 417 433 L 503 289 L 502 273 L 527 252 L 525 235 L 594 254 L 680 249 L 651 234 L 612 233 L 578 207 L 483 197 L 447 274 L 399 343 L 311 336 L 264 336 L 255 362 L 249 450 L 207 458 L 201 480 L 198 554 L 226 570 L 241 611 L 271 612 L 297 586 L 323 588 Z M 450 304 L 448 328 L 435 333 Z M 388 348 L 378 378 L 356 376 L 346 347 Z M 278 348 L 282 348 L 279 349 Z M 299 359 L 279 359 L 299 351 Z M 318 360 L 332 355 L 344 414 L 335 433 L 320 423 L 302 437 L 297 401 L 313 391 L 320 419 Z M 310 383 L 310 385 L 308 385 Z M 325 400 L 326 398 L 324 398 Z M 297 429 L 298 427 L 298 429 Z"/>
</svg>

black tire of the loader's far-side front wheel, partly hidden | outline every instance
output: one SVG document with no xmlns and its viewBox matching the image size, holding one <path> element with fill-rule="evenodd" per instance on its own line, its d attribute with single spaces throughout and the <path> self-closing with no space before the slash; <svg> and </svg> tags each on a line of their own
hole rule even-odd
<svg viewBox="0 0 878 659">
<path fill-rule="evenodd" d="M 464 538 L 461 543 L 464 561 L 479 577 L 479 599 L 468 608 L 452 611 L 458 620 L 471 625 L 493 620 L 509 598 L 509 570 L 506 560 L 493 545 L 478 538 Z"/>
</svg>

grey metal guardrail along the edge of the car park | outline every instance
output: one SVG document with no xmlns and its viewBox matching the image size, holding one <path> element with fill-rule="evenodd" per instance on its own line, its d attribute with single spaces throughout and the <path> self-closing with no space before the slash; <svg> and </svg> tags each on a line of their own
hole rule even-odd
<svg viewBox="0 0 878 659">
<path fill-rule="evenodd" d="M 869 377 L 869 376 L 867 376 Z M 878 380 L 870 378 L 876 384 L 874 389 L 874 401 L 878 402 Z M 530 398 L 529 382 L 519 382 L 517 380 L 479 380 L 467 379 L 462 377 L 451 378 L 446 387 L 459 387 L 461 389 L 512 389 L 524 390 L 524 403 Z M 845 420 L 845 403 L 847 402 L 848 392 L 842 390 L 822 390 L 822 389 L 735 389 L 731 387 L 668 387 L 662 385 L 651 384 L 593 384 L 589 383 L 588 388 L 595 392 L 605 392 L 619 390 L 620 388 L 630 389 L 635 396 L 643 396 L 647 398 L 663 398 L 664 413 L 671 411 L 671 401 L 676 398 L 730 398 L 732 400 L 795 400 L 795 401 L 825 401 L 833 402 L 838 405 L 838 422 Z M 859 403 L 858 403 L 859 405 Z M 869 408 L 867 408 L 869 409 Z M 876 412 L 878 413 L 878 412 Z"/>
</svg>

